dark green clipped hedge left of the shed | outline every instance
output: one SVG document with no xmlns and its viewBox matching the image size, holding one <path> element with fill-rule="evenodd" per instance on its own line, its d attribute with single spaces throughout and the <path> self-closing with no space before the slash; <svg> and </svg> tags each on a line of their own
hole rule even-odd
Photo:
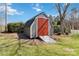
<svg viewBox="0 0 79 59">
<path fill-rule="evenodd" d="M 9 23 L 7 25 L 8 32 L 14 33 L 14 32 L 22 32 L 23 31 L 23 26 L 24 24 L 19 22 L 19 23 Z"/>
</svg>

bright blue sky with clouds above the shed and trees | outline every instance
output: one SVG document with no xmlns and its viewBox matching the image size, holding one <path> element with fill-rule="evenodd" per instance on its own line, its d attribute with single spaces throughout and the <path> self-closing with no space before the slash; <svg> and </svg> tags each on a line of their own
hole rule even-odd
<svg viewBox="0 0 79 59">
<path fill-rule="evenodd" d="M 8 4 L 8 22 L 26 22 L 40 12 L 57 15 L 55 3 L 12 3 Z M 71 4 L 68 13 L 72 8 L 79 8 L 79 4 Z"/>
</svg>

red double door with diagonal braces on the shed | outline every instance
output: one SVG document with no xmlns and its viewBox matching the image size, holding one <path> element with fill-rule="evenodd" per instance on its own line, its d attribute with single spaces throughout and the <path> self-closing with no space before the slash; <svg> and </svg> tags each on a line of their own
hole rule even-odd
<svg viewBox="0 0 79 59">
<path fill-rule="evenodd" d="M 38 36 L 48 35 L 48 20 L 38 18 Z"/>
</svg>

